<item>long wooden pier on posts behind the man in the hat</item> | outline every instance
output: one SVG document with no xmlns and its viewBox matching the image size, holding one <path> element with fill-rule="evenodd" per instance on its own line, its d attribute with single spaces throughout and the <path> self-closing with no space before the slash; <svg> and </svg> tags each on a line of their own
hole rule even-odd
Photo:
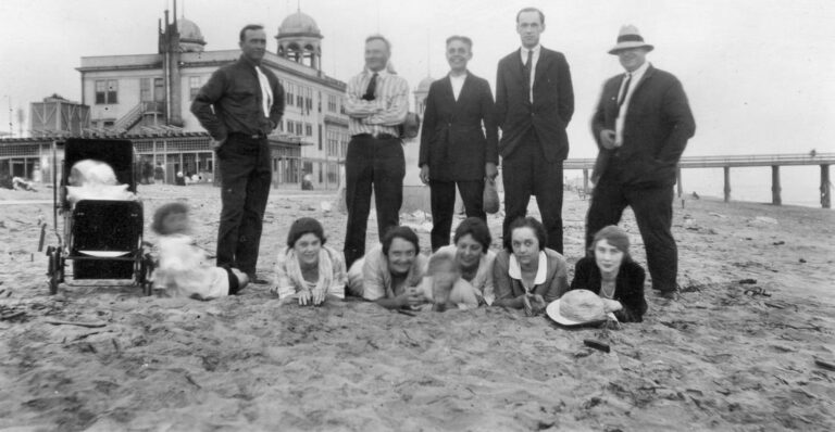
<svg viewBox="0 0 835 432">
<path fill-rule="evenodd" d="M 797 165 L 818 165 L 821 167 L 821 207 L 832 208 L 832 180 L 830 165 L 835 164 L 835 153 L 803 153 L 803 154 L 757 154 L 750 156 L 686 156 L 678 162 L 678 196 L 683 193 L 683 168 L 722 168 L 724 170 L 725 202 L 731 201 L 731 168 L 733 167 L 771 167 L 771 202 L 783 204 L 780 185 L 780 167 Z M 563 169 L 582 169 L 583 186 L 588 191 L 588 176 L 595 166 L 594 158 L 570 158 L 563 164 Z"/>
</svg>

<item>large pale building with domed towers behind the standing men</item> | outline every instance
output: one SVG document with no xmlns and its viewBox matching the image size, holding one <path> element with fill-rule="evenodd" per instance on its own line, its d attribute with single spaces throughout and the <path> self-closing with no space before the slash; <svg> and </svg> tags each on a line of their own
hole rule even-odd
<svg viewBox="0 0 835 432">
<path fill-rule="evenodd" d="M 170 181 L 177 171 L 213 176 L 209 137 L 189 107 L 212 73 L 236 62 L 240 51 L 207 51 L 198 25 L 176 17 L 176 4 L 173 21 L 166 11 L 159 27 L 154 54 L 82 58 L 82 104 L 89 106 L 90 122 L 85 132 L 135 137 L 140 157 L 163 164 Z M 349 139 L 346 85 L 322 72 L 322 38 L 315 21 L 297 11 L 282 22 L 277 47 L 267 47 L 263 59 L 286 93 L 284 118 L 269 137 L 275 186 L 298 185 L 307 174 L 316 188 L 339 186 Z"/>
</svg>

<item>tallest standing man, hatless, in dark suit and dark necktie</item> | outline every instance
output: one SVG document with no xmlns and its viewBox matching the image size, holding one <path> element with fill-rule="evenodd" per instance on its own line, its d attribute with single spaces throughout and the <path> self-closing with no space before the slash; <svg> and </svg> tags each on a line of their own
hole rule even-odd
<svg viewBox="0 0 835 432">
<path fill-rule="evenodd" d="M 522 48 L 499 61 L 496 118 L 504 186 L 504 228 L 527 213 L 536 196 L 547 246 L 562 253 L 562 161 L 569 155 L 565 127 L 574 114 L 574 90 L 565 56 L 543 48 L 545 15 L 534 8 L 516 14 Z"/>
</svg>

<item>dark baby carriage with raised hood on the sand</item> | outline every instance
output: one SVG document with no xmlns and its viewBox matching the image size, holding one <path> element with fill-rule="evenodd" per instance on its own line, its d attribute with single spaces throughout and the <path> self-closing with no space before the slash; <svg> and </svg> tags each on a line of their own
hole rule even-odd
<svg viewBox="0 0 835 432">
<path fill-rule="evenodd" d="M 57 163 L 55 144 L 52 149 Z M 127 140 L 68 139 L 64 143 L 62 170 L 53 170 L 53 217 L 57 246 L 47 249 L 49 292 L 55 294 L 65 280 L 66 261 L 72 261 L 74 280 L 132 279 L 134 285 L 151 294 L 149 275 L 152 261 L 142 243 L 142 204 L 137 200 L 68 196 L 72 167 L 79 161 L 104 162 L 113 168 L 123 194 L 136 193 L 134 145 Z M 58 174 L 60 171 L 60 174 Z M 60 185 L 58 176 L 60 178 Z M 126 189 L 126 190 L 125 190 Z M 95 199 L 89 199 L 95 198 Z M 63 216 L 63 236 L 59 230 Z"/>
</svg>

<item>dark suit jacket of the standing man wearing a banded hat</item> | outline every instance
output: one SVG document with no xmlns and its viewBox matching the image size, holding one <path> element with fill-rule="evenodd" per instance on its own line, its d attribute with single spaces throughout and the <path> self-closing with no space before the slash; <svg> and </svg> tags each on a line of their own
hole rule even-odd
<svg viewBox="0 0 835 432">
<path fill-rule="evenodd" d="M 618 93 L 623 74 L 603 85 L 591 131 L 600 149 L 601 175 L 612 171 L 615 181 L 627 186 L 665 187 L 675 185 L 675 168 L 687 140 L 696 132 L 687 96 L 672 74 L 650 65 L 632 93 L 623 127 L 623 145 L 612 151 L 600 145 L 600 131 L 614 130 Z M 602 180 L 601 180 L 602 181 Z"/>
</svg>

